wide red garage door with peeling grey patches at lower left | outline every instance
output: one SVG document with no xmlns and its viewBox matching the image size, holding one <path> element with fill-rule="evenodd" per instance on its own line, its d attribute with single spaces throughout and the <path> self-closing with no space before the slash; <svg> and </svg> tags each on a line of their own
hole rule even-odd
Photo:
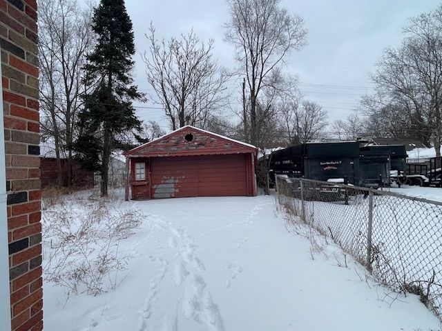
<svg viewBox="0 0 442 331">
<path fill-rule="evenodd" d="M 153 198 L 247 195 L 245 154 L 151 159 Z"/>
</svg>

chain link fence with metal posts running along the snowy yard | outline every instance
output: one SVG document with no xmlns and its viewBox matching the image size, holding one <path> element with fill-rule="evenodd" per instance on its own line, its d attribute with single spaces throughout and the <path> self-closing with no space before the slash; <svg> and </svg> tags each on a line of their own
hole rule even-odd
<svg viewBox="0 0 442 331">
<path fill-rule="evenodd" d="M 442 203 L 310 179 L 276 178 L 286 212 L 331 237 L 373 276 L 442 317 Z"/>
</svg>

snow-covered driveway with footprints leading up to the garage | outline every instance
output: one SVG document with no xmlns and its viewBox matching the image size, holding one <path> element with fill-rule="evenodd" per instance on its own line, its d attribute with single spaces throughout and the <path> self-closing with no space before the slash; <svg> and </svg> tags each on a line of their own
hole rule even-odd
<svg viewBox="0 0 442 331">
<path fill-rule="evenodd" d="M 116 290 L 68 301 L 46 282 L 45 330 L 441 330 L 418 297 L 376 285 L 349 257 L 345 268 L 336 245 L 312 250 L 306 237 L 316 234 L 288 228 L 273 197 L 126 207 L 145 214 L 119 246 L 132 257 L 126 277 Z"/>
</svg>

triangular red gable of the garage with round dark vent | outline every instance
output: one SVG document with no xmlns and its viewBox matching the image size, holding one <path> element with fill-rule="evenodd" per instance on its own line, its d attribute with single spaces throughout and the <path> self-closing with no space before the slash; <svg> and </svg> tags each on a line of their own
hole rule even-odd
<svg viewBox="0 0 442 331">
<path fill-rule="evenodd" d="M 256 147 L 193 126 L 184 126 L 169 134 L 129 150 L 127 157 L 173 157 L 201 154 L 254 153 Z"/>
</svg>

